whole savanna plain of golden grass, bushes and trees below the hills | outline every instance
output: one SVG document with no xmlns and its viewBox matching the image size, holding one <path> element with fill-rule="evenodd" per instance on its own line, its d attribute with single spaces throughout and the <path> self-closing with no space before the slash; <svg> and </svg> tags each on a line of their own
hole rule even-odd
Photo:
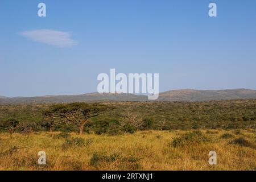
<svg viewBox="0 0 256 182">
<path fill-rule="evenodd" d="M 0 170 L 256 170 L 255 124 L 256 100 L 0 105 Z"/>
</svg>

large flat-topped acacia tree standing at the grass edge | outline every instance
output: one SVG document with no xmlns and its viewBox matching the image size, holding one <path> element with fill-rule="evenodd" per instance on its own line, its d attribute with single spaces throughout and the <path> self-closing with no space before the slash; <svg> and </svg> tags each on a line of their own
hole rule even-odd
<svg viewBox="0 0 256 182">
<path fill-rule="evenodd" d="M 90 118 L 96 117 L 107 109 L 104 105 L 86 104 L 83 102 L 75 102 L 72 104 L 55 105 L 52 111 L 64 118 L 65 122 L 75 124 L 82 135 L 85 124 Z"/>
</svg>

